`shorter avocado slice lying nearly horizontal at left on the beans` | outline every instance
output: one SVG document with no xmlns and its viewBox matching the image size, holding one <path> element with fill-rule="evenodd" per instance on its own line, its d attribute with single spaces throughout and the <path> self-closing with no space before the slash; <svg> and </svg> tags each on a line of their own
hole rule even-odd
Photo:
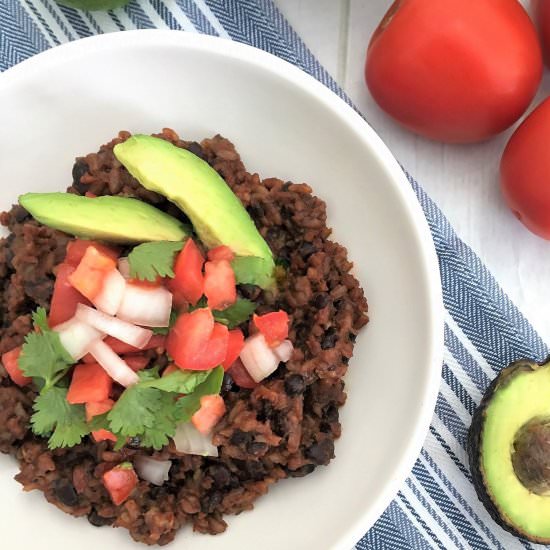
<svg viewBox="0 0 550 550">
<path fill-rule="evenodd" d="M 181 241 L 189 236 L 176 218 L 137 199 L 27 193 L 19 204 L 40 223 L 76 237 L 114 243 Z"/>
</svg>

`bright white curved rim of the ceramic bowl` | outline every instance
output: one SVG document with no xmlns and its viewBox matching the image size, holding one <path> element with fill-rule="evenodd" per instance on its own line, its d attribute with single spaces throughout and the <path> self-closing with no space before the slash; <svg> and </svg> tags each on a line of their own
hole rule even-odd
<svg viewBox="0 0 550 550">
<path fill-rule="evenodd" d="M 401 207 L 409 216 L 421 260 L 420 274 L 428 296 L 426 364 L 429 365 L 429 371 L 426 375 L 423 393 L 418 396 L 419 406 L 416 411 L 414 429 L 409 434 L 406 449 L 391 480 L 380 491 L 378 498 L 373 501 L 371 506 L 363 510 L 353 525 L 339 536 L 339 540 L 334 546 L 335 550 L 349 550 L 374 525 L 409 475 L 424 443 L 435 409 L 444 349 L 444 305 L 439 262 L 428 222 L 402 167 L 380 136 L 357 111 L 300 68 L 248 44 L 226 38 L 169 29 L 138 29 L 93 35 L 52 47 L 7 69 L 0 74 L 0 92 L 8 89 L 11 85 L 24 81 L 28 75 L 32 75 L 35 68 L 41 65 L 58 65 L 68 57 L 95 54 L 101 50 L 112 52 L 114 48 L 124 49 L 134 46 L 143 47 L 144 45 L 183 47 L 255 65 L 299 88 L 302 92 L 313 95 L 353 130 L 354 134 L 360 137 L 363 145 L 378 159 L 388 175 L 388 184 L 393 186 L 393 191 L 401 201 Z"/>
</svg>

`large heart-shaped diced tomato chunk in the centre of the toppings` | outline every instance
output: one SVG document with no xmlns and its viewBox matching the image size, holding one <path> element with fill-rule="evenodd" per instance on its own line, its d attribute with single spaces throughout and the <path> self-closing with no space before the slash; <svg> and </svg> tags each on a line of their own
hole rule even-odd
<svg viewBox="0 0 550 550">
<path fill-rule="evenodd" d="M 168 335 L 166 349 L 181 369 L 212 369 L 225 359 L 228 332 L 226 326 L 214 323 L 209 309 L 196 309 L 178 317 Z"/>
</svg>

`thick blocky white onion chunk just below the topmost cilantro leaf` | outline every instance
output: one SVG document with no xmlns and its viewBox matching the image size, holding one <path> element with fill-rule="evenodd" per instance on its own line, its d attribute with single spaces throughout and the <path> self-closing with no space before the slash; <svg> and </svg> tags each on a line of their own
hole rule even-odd
<svg viewBox="0 0 550 550">
<path fill-rule="evenodd" d="M 167 327 L 172 312 L 172 293 L 164 287 L 128 283 L 117 317 L 145 327 Z"/>
</svg>

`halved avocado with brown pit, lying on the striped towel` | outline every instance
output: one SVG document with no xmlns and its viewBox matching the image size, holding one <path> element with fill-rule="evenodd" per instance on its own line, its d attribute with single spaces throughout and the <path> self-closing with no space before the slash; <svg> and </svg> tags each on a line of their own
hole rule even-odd
<svg viewBox="0 0 550 550">
<path fill-rule="evenodd" d="M 468 455 L 479 499 L 511 533 L 550 543 L 550 362 L 521 360 L 474 413 Z"/>
</svg>

